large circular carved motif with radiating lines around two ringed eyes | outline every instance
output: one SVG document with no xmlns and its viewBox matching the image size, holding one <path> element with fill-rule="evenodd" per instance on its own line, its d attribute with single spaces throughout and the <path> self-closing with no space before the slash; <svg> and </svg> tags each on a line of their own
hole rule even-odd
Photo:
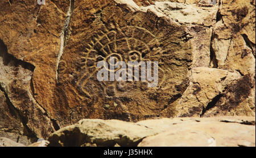
<svg viewBox="0 0 256 158">
<path fill-rule="evenodd" d="M 77 55 L 79 61 L 68 63 L 69 65 L 78 63 L 79 69 L 72 69 L 72 71 L 78 70 L 75 74 L 69 74 L 70 72 L 59 67 L 60 82 L 63 76 L 73 78 L 72 84 L 68 85 L 73 87 L 71 89 L 74 89 L 73 92 L 76 91 L 79 95 L 77 97 L 84 97 L 84 104 L 108 107 L 104 110 L 110 111 L 119 107 L 122 113 L 130 119 L 131 111 L 144 110 L 154 113 L 159 110 L 159 106 L 166 107 L 171 97 L 179 93 L 175 90 L 175 85 L 180 84 L 186 76 L 177 76 L 175 71 L 184 71 L 181 73 L 185 74 L 187 67 L 181 66 L 184 68 L 180 69 L 176 63 L 173 65 L 170 61 L 175 62 L 176 59 L 171 50 L 163 50 L 162 41 L 160 42 L 158 37 L 147 29 L 136 26 L 115 26 L 113 29 L 104 27 L 86 41 L 85 48 Z M 133 75 L 133 80 L 98 81 L 97 72 L 102 68 L 97 68 L 97 63 L 105 61 L 111 65 L 110 57 L 114 58 L 115 63 L 118 61 L 126 64 L 129 61 L 138 63 L 151 61 L 152 68 L 155 64 L 153 62 L 158 61 L 158 86 L 148 87 L 152 81 L 141 80 L 141 65 L 139 65 L 139 78 Z M 61 59 L 60 66 L 67 66 L 68 60 L 67 58 L 65 61 Z M 107 70 L 112 71 L 109 67 Z M 115 72 L 117 70 L 119 68 L 114 69 Z M 136 107 L 138 109 L 134 109 Z M 106 115 L 112 118 L 111 114 Z"/>
</svg>

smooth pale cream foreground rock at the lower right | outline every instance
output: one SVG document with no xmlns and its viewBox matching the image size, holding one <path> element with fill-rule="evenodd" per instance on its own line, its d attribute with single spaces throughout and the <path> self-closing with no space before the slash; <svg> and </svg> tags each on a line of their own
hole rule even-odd
<svg viewBox="0 0 256 158">
<path fill-rule="evenodd" d="M 137 124 L 165 131 L 143 139 L 139 147 L 255 147 L 255 117 L 163 118 Z"/>
</svg>

